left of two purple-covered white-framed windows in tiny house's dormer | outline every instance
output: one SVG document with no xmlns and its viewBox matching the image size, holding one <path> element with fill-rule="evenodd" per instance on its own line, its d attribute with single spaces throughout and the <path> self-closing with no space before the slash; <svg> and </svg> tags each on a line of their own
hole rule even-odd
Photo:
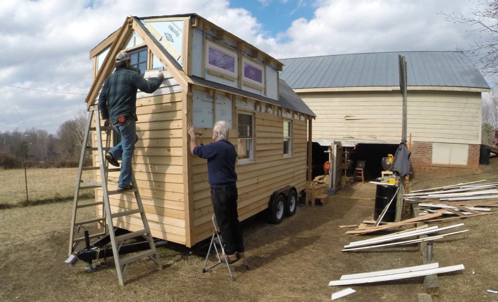
<svg viewBox="0 0 498 302">
<path fill-rule="evenodd" d="M 206 69 L 237 79 L 237 53 L 206 41 Z"/>
</svg>

